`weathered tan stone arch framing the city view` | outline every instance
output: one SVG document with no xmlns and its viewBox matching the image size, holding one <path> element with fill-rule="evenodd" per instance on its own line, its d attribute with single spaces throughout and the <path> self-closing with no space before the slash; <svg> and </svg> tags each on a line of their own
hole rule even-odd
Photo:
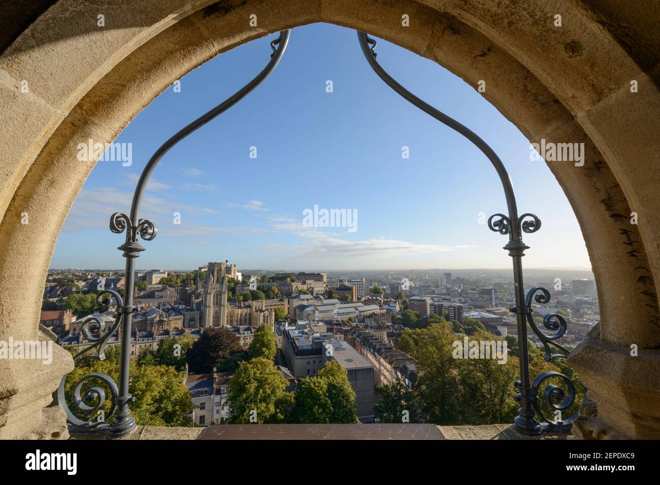
<svg viewBox="0 0 660 485">
<path fill-rule="evenodd" d="M 658 436 L 653 420 L 659 418 L 660 377 L 642 373 L 646 366 L 658 370 L 660 361 L 660 174 L 649 170 L 660 156 L 657 26 L 641 7 L 622 12 L 614 0 L 558 5 L 141 0 L 99 6 L 59 0 L 30 13 L 34 18 L 0 55 L 0 339 L 38 334 L 55 240 L 94 165 L 77 160 L 78 143 L 114 140 L 174 80 L 218 53 L 283 28 L 330 22 L 395 42 L 473 86 L 485 77 L 484 96 L 530 141 L 585 144 L 582 168 L 550 165 L 583 230 L 600 296 L 601 335 L 572 362 L 608 429 Z M 552 22 L 557 9 L 561 28 Z M 101 12 L 104 28 L 96 23 Z M 410 27 L 401 25 L 404 13 Z M 248 24 L 252 14 L 257 27 Z M 21 90 L 23 81 L 28 92 Z M 638 82 L 634 94 L 631 81 Z M 631 212 L 638 225 L 628 222 Z M 28 224 L 21 224 L 24 214 Z M 632 362 L 626 359 L 631 343 L 641 349 Z M 46 433 L 38 430 L 48 430 L 42 424 L 56 411 L 43 408 L 72 367 L 59 348 L 53 360 L 48 370 L 0 362 L 0 436 L 29 435 L 26 416 L 34 433 Z M 646 381 L 633 377 L 631 383 L 632 374 Z M 61 426 L 61 416 L 53 419 Z"/>
</svg>

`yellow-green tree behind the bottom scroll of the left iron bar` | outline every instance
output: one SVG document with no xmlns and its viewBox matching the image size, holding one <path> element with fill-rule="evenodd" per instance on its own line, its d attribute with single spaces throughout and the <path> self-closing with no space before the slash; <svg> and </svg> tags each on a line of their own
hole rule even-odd
<svg viewBox="0 0 660 485">
<path fill-rule="evenodd" d="M 77 408 L 71 402 L 73 385 L 91 372 L 106 373 L 116 383 L 119 382 L 118 362 L 91 359 L 77 362 L 73 372 L 67 375 L 65 383 L 67 404 L 69 409 L 75 413 Z M 183 384 L 183 376 L 180 372 L 167 366 L 139 366 L 135 362 L 131 362 L 130 374 L 129 393 L 135 398 L 135 401 L 129 403 L 129 408 L 139 426 L 193 426 L 190 417 L 193 412 L 193 403 L 190 399 L 190 392 Z M 106 389 L 106 396 L 110 397 L 107 385 L 94 378 L 84 381 L 81 395 L 84 395 L 84 392 L 93 386 Z M 106 416 L 110 412 L 110 401 L 110 399 L 106 399 L 100 408 Z M 98 419 L 103 416 L 102 414 L 85 416 L 80 412 L 76 414 L 84 420 L 90 417 Z M 107 418 L 108 422 L 112 422 L 113 418 L 110 416 Z"/>
</svg>

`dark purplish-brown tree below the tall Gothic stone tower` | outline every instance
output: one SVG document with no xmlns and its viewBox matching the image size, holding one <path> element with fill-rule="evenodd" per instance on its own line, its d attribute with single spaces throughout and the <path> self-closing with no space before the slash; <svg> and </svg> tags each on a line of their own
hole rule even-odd
<svg viewBox="0 0 660 485">
<path fill-rule="evenodd" d="M 241 344 L 234 332 L 226 327 L 215 327 L 203 332 L 187 352 L 191 372 L 211 372 L 230 355 L 241 350 Z"/>
</svg>

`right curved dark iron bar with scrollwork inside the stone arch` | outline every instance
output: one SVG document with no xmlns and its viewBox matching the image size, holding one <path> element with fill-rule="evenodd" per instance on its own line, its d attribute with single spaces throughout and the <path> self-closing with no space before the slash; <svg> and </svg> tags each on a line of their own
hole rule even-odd
<svg viewBox="0 0 660 485">
<path fill-rule="evenodd" d="M 401 95 L 405 100 L 411 102 L 414 106 L 422 110 L 423 112 L 431 115 L 444 125 L 447 125 L 451 129 L 457 131 L 463 137 L 467 138 L 477 146 L 481 152 L 486 155 L 486 158 L 490 160 L 490 163 L 494 166 L 498 176 L 500 176 L 500 181 L 502 181 L 502 188 L 504 189 L 504 197 L 506 197 L 506 205 L 508 208 L 508 215 L 505 214 L 494 214 L 488 218 L 488 228 L 494 232 L 499 232 L 500 234 L 509 236 L 509 243 L 504 246 L 504 249 L 509 251 L 509 255 L 513 258 L 513 282 L 515 286 L 515 307 L 511 309 L 512 312 L 516 313 L 517 318 L 517 337 L 518 337 L 518 356 L 520 362 L 520 380 L 516 381 L 515 386 L 519 389 L 519 394 L 516 396 L 516 400 L 520 403 L 520 408 L 518 410 L 518 416 L 515 418 L 515 427 L 519 432 L 529 435 L 540 434 L 543 428 L 541 424 L 535 419 L 535 415 L 538 415 L 542 420 L 544 420 L 547 425 L 555 430 L 561 429 L 566 430 L 566 425 L 575 418 L 573 416 L 570 420 L 561 421 L 561 420 L 550 420 L 543 415 L 540 408 L 540 399 L 537 396 L 541 384 L 543 384 L 547 379 L 562 379 L 567 383 L 568 391 L 564 393 L 560 387 L 556 385 L 548 385 L 544 392 L 544 398 L 546 403 L 554 408 L 555 410 L 565 410 L 571 406 L 575 399 L 575 389 L 573 383 L 568 377 L 558 372 L 545 372 L 533 383 L 529 376 L 529 348 L 527 346 L 527 319 L 529 319 L 529 324 L 531 329 L 539 336 L 546 350 L 546 360 L 552 360 L 557 357 L 565 357 L 568 355 L 568 349 L 560 346 L 554 340 L 559 339 L 564 335 L 566 331 L 566 321 L 561 317 L 561 315 L 548 315 L 544 319 L 544 325 L 547 329 L 556 330 L 557 332 L 551 337 L 546 336 L 545 334 L 539 331 L 538 327 L 535 325 L 535 322 L 532 318 L 532 307 L 531 299 L 535 292 L 542 291 L 543 296 L 536 295 L 535 300 L 537 303 L 547 303 L 550 301 L 550 293 L 545 288 L 532 288 L 527 296 L 525 296 L 525 290 L 523 286 L 523 267 L 521 258 L 525 255 L 525 249 L 529 249 L 523 240 L 522 234 L 537 232 L 541 228 L 541 220 L 535 215 L 530 213 L 522 214 L 518 216 L 518 209 L 515 202 L 515 193 L 513 192 L 513 185 L 511 178 L 500 160 L 500 157 L 488 146 L 488 144 L 483 141 L 476 133 L 471 129 L 459 123 L 449 115 L 441 112 L 437 108 L 434 108 L 430 104 L 424 102 L 409 90 L 401 86 L 399 82 L 395 81 L 386 71 L 381 67 L 381 65 L 376 61 L 376 40 L 370 38 L 364 32 L 358 32 L 358 42 L 360 42 L 360 48 L 362 48 L 362 53 L 369 63 L 370 67 L 374 72 L 382 79 L 385 84 L 391 87 L 395 92 Z M 369 47 L 371 46 L 371 47 Z M 552 344 L 560 349 L 561 354 L 552 354 L 550 352 L 549 345 Z M 561 401 L 559 404 L 553 401 Z"/>
</svg>

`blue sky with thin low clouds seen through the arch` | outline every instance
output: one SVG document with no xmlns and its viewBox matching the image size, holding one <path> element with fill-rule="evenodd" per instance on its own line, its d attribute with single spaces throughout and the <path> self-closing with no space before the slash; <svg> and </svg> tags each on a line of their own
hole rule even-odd
<svg viewBox="0 0 660 485">
<path fill-rule="evenodd" d="M 219 55 L 158 96 L 119 135 L 132 164 L 98 162 L 57 241 L 51 267 L 121 268 L 128 212 L 153 152 L 254 77 L 269 60 L 262 38 Z M 489 143 L 509 170 L 527 235 L 525 267 L 590 267 L 574 213 L 529 141 L 482 95 L 438 64 L 379 40 L 397 81 Z M 326 92 L 326 82 L 333 92 Z M 487 84 L 486 84 L 486 88 Z M 249 158 L 250 147 L 257 158 Z M 410 158 L 403 159 L 402 147 Z M 550 162 L 570 163 L 570 162 Z M 158 236 L 138 268 L 193 269 L 230 260 L 244 269 L 508 268 L 506 236 L 479 224 L 505 212 L 500 181 L 469 141 L 409 104 L 370 69 L 353 30 L 292 30 L 275 72 L 247 98 L 170 150 L 152 175 L 141 217 Z M 308 228 L 305 209 L 350 209 L 347 228 Z M 181 224 L 174 224 L 180 212 Z M 81 247 L 85 250 L 81 251 Z"/>
</svg>

